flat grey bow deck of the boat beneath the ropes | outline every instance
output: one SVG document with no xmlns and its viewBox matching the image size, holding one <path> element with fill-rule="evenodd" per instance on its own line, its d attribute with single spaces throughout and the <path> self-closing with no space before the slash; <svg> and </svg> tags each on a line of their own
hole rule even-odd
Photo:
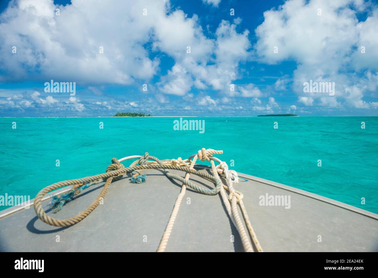
<svg viewBox="0 0 378 278">
<path fill-rule="evenodd" d="M 182 171 L 170 171 L 184 176 Z M 148 178 L 143 184 L 132 184 L 126 175 L 113 182 L 104 204 L 71 227 L 45 224 L 37 218 L 33 206 L 0 218 L 0 251 L 155 252 L 181 184 L 168 179 L 161 170 L 148 169 L 144 173 Z M 191 180 L 214 188 L 211 182 L 198 176 L 191 175 Z M 288 191 L 258 180 L 241 181 L 234 187 L 244 194 L 246 210 L 264 251 L 378 251 L 378 215 L 333 201 L 370 217 L 361 215 L 310 196 L 330 199 L 282 185 Z M 70 218 L 96 198 L 103 184 L 84 190 L 56 214 L 47 210 L 50 200 L 44 201 L 43 207 L 54 218 Z M 291 207 L 260 206 L 259 196 L 266 193 L 290 195 Z M 243 251 L 220 195 L 203 195 L 187 188 L 166 251 Z"/>
</svg>

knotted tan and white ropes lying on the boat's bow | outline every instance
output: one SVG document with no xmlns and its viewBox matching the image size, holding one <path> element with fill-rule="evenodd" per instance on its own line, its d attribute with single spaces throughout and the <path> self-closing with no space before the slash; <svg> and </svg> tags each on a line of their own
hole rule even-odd
<svg viewBox="0 0 378 278">
<path fill-rule="evenodd" d="M 217 151 L 213 149 L 206 150 L 205 148 L 202 148 L 201 150 L 198 151 L 197 154 L 192 155 L 188 159 L 182 160 L 181 158 L 178 158 L 178 159 L 172 159 L 169 162 L 162 162 L 160 159 L 156 158 L 155 156 L 150 156 L 148 153 L 145 153 L 144 156 L 129 156 L 129 157 L 120 159 L 120 161 L 123 161 L 123 160 L 131 159 L 131 158 L 139 158 L 136 161 L 134 161 L 132 164 L 130 164 L 130 166 L 127 168 L 125 168 L 125 166 L 121 164 L 118 159 L 113 158 L 112 164 L 110 164 L 106 169 L 106 173 L 102 173 L 95 176 L 89 176 L 89 177 L 85 177 L 81 179 L 61 181 L 61 182 L 57 182 L 43 188 L 39 193 L 37 193 L 34 199 L 34 210 L 38 218 L 41 219 L 43 222 L 49 225 L 56 226 L 56 227 L 68 227 L 83 220 L 100 204 L 102 199 L 105 197 L 110 187 L 110 184 L 113 180 L 121 179 L 122 176 L 128 172 L 133 172 L 133 174 L 135 174 L 135 173 L 141 173 L 141 171 L 139 170 L 142 170 L 142 169 L 163 169 L 165 175 L 168 178 L 176 179 L 182 182 L 183 185 L 181 187 L 181 192 L 178 195 L 178 198 L 175 202 L 174 208 L 168 220 L 166 229 L 163 233 L 157 252 L 164 252 L 166 249 L 170 234 L 172 232 L 175 220 L 177 218 L 181 201 L 186 192 L 186 187 L 189 187 L 205 195 L 217 195 L 218 193 L 220 193 L 222 196 L 222 201 L 224 202 L 226 206 L 227 213 L 231 221 L 234 223 L 235 227 L 237 228 L 240 238 L 242 239 L 244 250 L 246 252 L 254 251 L 253 246 L 250 241 L 251 239 L 256 250 L 258 252 L 263 252 L 262 247 L 260 246 L 260 243 L 257 239 L 256 233 L 254 232 L 251 222 L 249 221 L 246 209 L 244 207 L 244 204 L 242 201 L 243 194 L 239 191 L 236 191 L 232 185 L 233 181 L 237 181 L 236 172 L 228 170 L 228 165 L 226 164 L 226 162 L 220 161 L 218 158 L 215 158 L 212 156 L 213 154 L 222 154 L 222 153 L 223 151 Z M 195 170 L 194 165 L 197 159 L 200 159 L 201 161 L 205 161 L 205 160 L 210 161 L 213 175 L 209 175 L 208 173 Z M 148 161 L 148 160 L 153 160 L 153 161 Z M 220 164 L 215 166 L 214 160 L 217 162 L 220 162 Z M 170 173 L 167 169 L 186 171 L 185 178 L 182 178 L 181 176 L 178 176 L 178 175 L 174 175 Z M 215 188 L 206 189 L 196 184 L 193 184 L 191 181 L 189 181 L 190 174 L 194 174 L 194 175 L 200 176 L 201 178 L 214 182 Z M 222 175 L 225 178 L 227 185 L 224 185 L 222 183 L 222 180 L 220 179 L 219 175 Z M 56 219 L 51 216 L 48 216 L 45 210 L 43 210 L 42 208 L 43 196 L 45 196 L 48 192 L 51 192 L 52 190 L 55 190 L 60 187 L 65 187 L 68 185 L 74 185 L 72 190 L 68 194 L 66 193 L 67 195 L 65 196 L 68 196 L 68 197 L 67 198 L 65 197 L 64 201 L 59 203 L 59 206 L 60 206 L 59 209 L 60 209 L 67 201 L 71 201 L 75 195 L 80 193 L 82 189 L 85 189 L 89 187 L 90 185 L 97 184 L 101 181 L 105 181 L 105 185 L 102 188 L 100 194 L 83 212 L 79 213 L 78 215 L 74 217 L 71 217 L 68 219 Z M 226 190 L 229 191 L 229 195 L 226 193 Z M 246 224 L 246 227 L 248 228 L 249 233 L 247 233 L 245 230 L 242 219 L 239 216 L 237 205 L 240 206 L 240 210 L 242 211 L 243 219 L 245 221 L 245 224 Z"/>
</svg>

